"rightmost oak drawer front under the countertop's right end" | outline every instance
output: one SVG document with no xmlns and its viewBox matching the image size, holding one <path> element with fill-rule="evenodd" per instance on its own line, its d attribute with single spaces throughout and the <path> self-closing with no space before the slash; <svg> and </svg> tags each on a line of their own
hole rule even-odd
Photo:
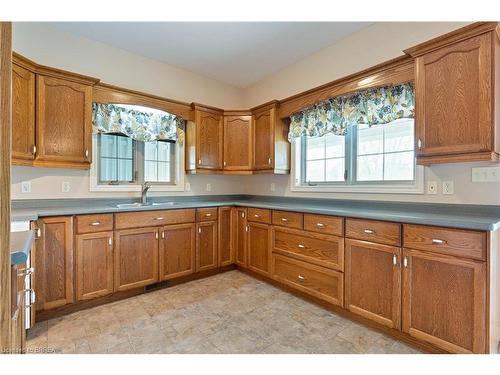
<svg viewBox="0 0 500 375">
<path fill-rule="evenodd" d="M 403 233 L 405 248 L 486 259 L 485 232 L 404 224 Z"/>
</svg>

